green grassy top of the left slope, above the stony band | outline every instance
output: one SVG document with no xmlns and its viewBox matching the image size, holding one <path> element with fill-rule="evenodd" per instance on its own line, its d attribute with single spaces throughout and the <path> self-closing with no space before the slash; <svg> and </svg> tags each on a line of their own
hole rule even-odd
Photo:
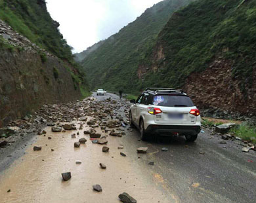
<svg viewBox="0 0 256 203">
<path fill-rule="evenodd" d="M 47 12 L 44 0 L 0 0 L 0 18 L 41 48 L 73 61 L 71 47 Z"/>
</svg>

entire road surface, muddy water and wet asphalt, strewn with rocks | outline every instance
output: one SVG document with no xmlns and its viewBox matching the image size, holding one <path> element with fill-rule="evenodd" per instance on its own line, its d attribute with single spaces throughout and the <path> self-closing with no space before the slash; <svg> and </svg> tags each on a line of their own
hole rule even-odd
<svg viewBox="0 0 256 203">
<path fill-rule="evenodd" d="M 221 137 L 207 129 L 194 143 L 182 137 L 140 141 L 136 129 L 120 125 L 127 123 L 129 103 L 114 94 L 93 97 L 79 102 L 82 113 L 72 121 L 56 120 L 60 126 L 73 123 L 77 130 L 52 132 L 48 126 L 46 134 L 32 139 L 26 153 L 0 173 L 1 203 L 114 203 L 123 192 L 139 203 L 256 202 L 256 153 L 243 153 L 241 142 L 221 144 Z M 93 143 L 90 137 L 98 134 L 108 143 Z M 74 147 L 80 138 L 86 143 Z M 33 151 L 34 146 L 41 151 Z M 104 146 L 108 153 L 102 152 Z M 147 153 L 138 154 L 138 147 L 148 147 Z M 168 151 L 161 151 L 163 147 Z M 63 181 L 64 172 L 72 178 Z M 96 184 L 102 192 L 93 191 Z"/>
</svg>

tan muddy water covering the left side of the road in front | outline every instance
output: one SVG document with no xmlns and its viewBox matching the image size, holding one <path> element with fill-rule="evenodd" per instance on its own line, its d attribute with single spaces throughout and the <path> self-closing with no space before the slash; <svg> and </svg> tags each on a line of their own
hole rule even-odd
<svg viewBox="0 0 256 203">
<path fill-rule="evenodd" d="M 110 152 L 102 153 L 102 145 L 91 143 L 89 136 L 83 135 L 86 128 L 79 130 L 80 135 L 75 139 L 71 135 L 77 130 L 61 133 L 53 133 L 51 128 L 46 130 L 46 136 L 39 136 L 37 142 L 28 147 L 26 155 L 1 174 L 0 202 L 113 203 L 119 202 L 118 195 L 123 192 L 140 203 L 172 202 L 136 161 L 128 154 L 127 157 L 119 155 L 117 146 L 121 138 L 108 136 Z M 52 139 L 48 139 L 49 136 Z M 79 138 L 86 138 L 87 143 L 74 148 Z M 42 150 L 33 151 L 34 145 L 41 146 Z M 129 143 L 125 147 L 129 147 Z M 121 151 L 127 153 L 125 149 Z M 75 160 L 82 163 L 75 164 Z M 100 162 L 106 164 L 106 170 L 100 168 Z M 62 181 L 63 172 L 71 172 L 72 179 Z M 102 193 L 93 191 L 95 184 L 102 186 Z M 7 193 L 9 189 L 11 192 Z"/>
</svg>

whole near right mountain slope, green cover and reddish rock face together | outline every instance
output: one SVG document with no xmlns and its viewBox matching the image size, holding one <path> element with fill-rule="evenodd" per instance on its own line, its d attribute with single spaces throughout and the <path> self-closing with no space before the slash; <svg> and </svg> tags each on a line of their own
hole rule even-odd
<svg viewBox="0 0 256 203">
<path fill-rule="evenodd" d="M 204 109 L 256 115 L 255 34 L 255 0 L 191 3 L 173 14 L 140 64 L 142 88 L 182 87 Z"/>
</svg>

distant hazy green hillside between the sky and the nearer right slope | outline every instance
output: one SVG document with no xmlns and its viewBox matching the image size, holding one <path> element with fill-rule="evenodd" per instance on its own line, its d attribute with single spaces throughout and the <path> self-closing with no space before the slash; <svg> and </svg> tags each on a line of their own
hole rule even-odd
<svg viewBox="0 0 256 203">
<path fill-rule="evenodd" d="M 158 33 L 175 10 L 192 0 L 165 0 L 87 54 L 82 64 L 93 88 L 137 90 L 137 68 L 150 54 Z M 148 51 L 147 51 L 148 50 Z"/>
</svg>

